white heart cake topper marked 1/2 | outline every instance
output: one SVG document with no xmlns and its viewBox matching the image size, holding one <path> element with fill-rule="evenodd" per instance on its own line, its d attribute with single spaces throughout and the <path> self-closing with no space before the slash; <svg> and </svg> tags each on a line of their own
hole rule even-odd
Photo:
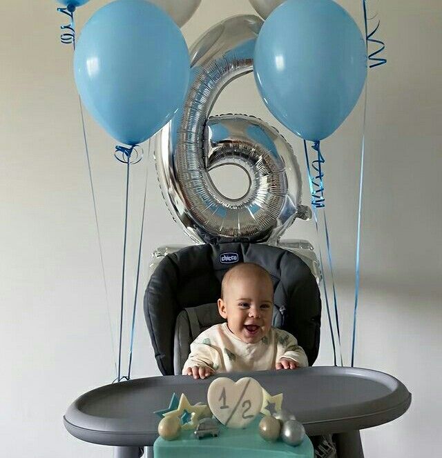
<svg viewBox="0 0 442 458">
<path fill-rule="evenodd" d="M 209 408 L 229 428 L 244 428 L 261 410 L 262 388 L 258 381 L 244 377 L 234 382 L 227 377 L 213 380 L 207 390 Z"/>
</svg>

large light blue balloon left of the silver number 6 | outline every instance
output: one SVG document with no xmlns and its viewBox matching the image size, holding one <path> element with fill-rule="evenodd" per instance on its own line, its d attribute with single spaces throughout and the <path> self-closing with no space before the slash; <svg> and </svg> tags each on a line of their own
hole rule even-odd
<svg viewBox="0 0 442 458">
<path fill-rule="evenodd" d="M 145 0 L 117 0 L 95 12 L 81 31 L 74 72 L 95 120 L 118 141 L 135 145 L 182 106 L 189 51 L 160 8 Z"/>
</svg>

